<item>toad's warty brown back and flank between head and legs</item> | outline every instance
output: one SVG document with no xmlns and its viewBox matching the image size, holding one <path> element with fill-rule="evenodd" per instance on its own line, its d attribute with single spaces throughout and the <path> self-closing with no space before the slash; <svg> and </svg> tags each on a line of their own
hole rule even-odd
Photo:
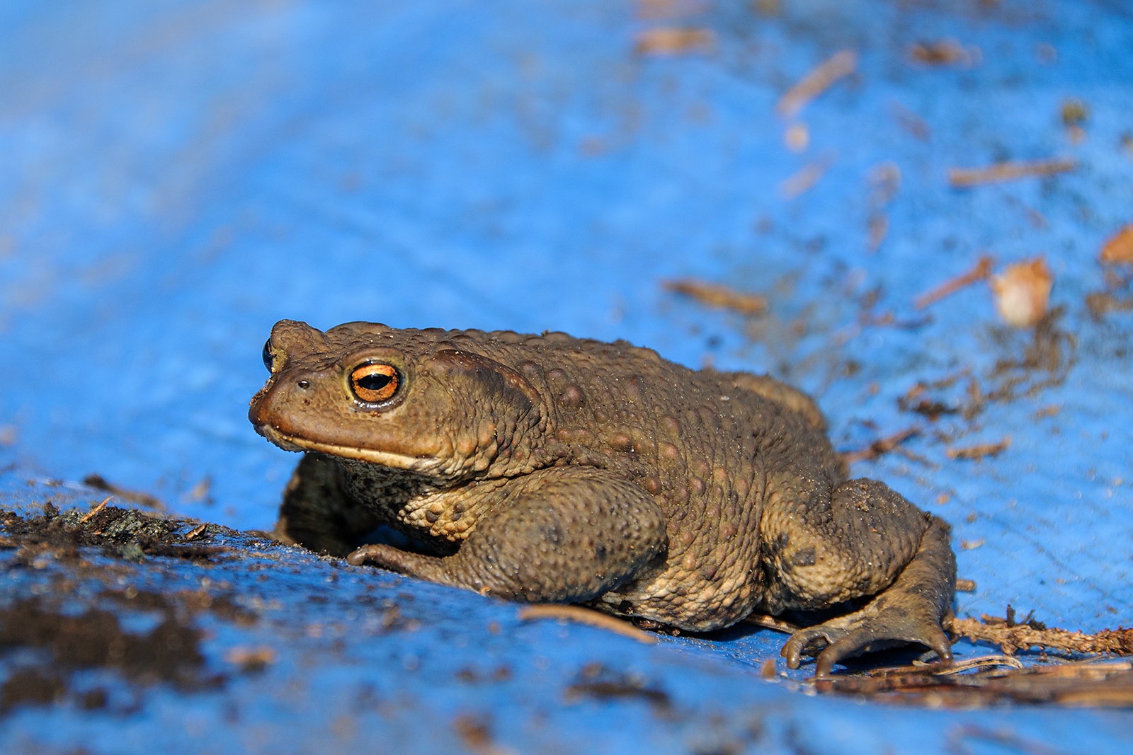
<svg viewBox="0 0 1133 755">
<path fill-rule="evenodd" d="M 514 368 L 544 397 L 546 434 L 533 448 L 540 465 L 616 472 L 664 513 L 664 563 L 600 600 L 684 624 L 731 623 L 759 607 L 768 483 L 776 497 L 828 497 L 845 477 L 810 398 L 769 378 L 693 371 L 625 342 L 547 334 L 509 343 L 512 335 L 469 333 L 467 348 Z"/>
</svg>

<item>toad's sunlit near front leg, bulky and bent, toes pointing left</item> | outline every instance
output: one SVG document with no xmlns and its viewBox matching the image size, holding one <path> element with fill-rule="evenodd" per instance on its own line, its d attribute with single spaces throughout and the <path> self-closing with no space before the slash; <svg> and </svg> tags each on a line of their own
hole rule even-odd
<svg viewBox="0 0 1133 755">
<path fill-rule="evenodd" d="M 531 602 L 583 602 L 664 558 L 665 521 L 653 497 L 591 467 L 514 480 L 453 556 L 363 546 L 349 561 Z"/>
</svg>

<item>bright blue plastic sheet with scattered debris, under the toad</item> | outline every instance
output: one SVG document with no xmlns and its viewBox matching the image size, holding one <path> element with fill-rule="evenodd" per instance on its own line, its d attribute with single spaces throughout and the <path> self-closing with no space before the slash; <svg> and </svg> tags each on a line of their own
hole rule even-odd
<svg viewBox="0 0 1133 755">
<path fill-rule="evenodd" d="M 556 329 L 783 377 L 818 398 L 842 449 L 919 426 L 904 454 L 853 472 L 953 525 L 978 585 L 957 615 L 1131 621 L 1131 315 L 1087 306 L 1128 295 L 1097 260 L 1133 222 L 1125 3 L 119 0 L 9 2 L 0 20 L 6 508 L 85 508 L 105 497 L 80 484 L 96 473 L 184 516 L 269 529 L 297 457 L 245 414 L 274 320 Z M 650 54 L 659 28 L 696 29 L 699 46 Z M 851 75 L 776 112 L 844 50 Z M 1050 158 L 1075 168 L 948 181 Z M 914 306 L 982 254 L 999 271 L 1045 256 L 1060 314 L 1042 359 L 986 283 Z M 662 285 L 681 277 L 761 293 L 769 312 Z M 971 406 L 973 380 L 998 400 L 947 413 Z M 918 383 L 946 413 L 908 411 Z M 948 454 L 1008 437 L 995 456 Z M 74 685 L 109 686 L 108 707 L 14 707 L 0 749 L 1131 746 L 1124 711 L 812 696 L 794 686 L 806 669 L 760 678 L 782 642 L 766 630 L 647 646 L 227 537 L 246 557 L 152 558 L 122 577 L 229 591 L 259 617 L 196 619 L 221 686 L 84 671 Z M 7 604 L 57 589 L 61 566 L 0 558 Z M 76 611 L 91 590 L 68 599 Z M 241 670 L 233 649 L 270 660 Z M 578 694 L 590 663 L 640 694 Z"/>
</svg>

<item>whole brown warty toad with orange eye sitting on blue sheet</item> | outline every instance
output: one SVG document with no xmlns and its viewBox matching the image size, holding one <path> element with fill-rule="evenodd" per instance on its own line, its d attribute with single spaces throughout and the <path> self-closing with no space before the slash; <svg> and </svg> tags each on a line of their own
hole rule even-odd
<svg viewBox="0 0 1133 755">
<path fill-rule="evenodd" d="M 951 658 L 948 527 L 847 480 L 804 394 L 561 333 L 283 320 L 256 430 L 306 452 L 276 534 L 442 584 L 689 630 L 857 610 L 795 633 L 796 667 L 905 642 Z M 414 549 L 366 544 L 387 524 Z"/>
</svg>

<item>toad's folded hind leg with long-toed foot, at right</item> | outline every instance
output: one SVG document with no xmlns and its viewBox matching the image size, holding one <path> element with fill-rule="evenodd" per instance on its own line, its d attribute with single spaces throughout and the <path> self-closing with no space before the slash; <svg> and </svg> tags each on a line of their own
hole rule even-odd
<svg viewBox="0 0 1133 755">
<path fill-rule="evenodd" d="M 778 538 L 768 541 L 780 575 L 777 608 L 876 597 L 861 610 L 792 635 L 783 647 L 787 666 L 798 668 L 800 655 L 818 655 L 816 675 L 826 676 L 844 658 L 905 643 L 951 660 L 940 626 L 956 585 L 947 524 L 874 480 L 851 480 L 828 506 L 793 513 L 793 520 L 770 515 L 780 527 Z"/>
</svg>

